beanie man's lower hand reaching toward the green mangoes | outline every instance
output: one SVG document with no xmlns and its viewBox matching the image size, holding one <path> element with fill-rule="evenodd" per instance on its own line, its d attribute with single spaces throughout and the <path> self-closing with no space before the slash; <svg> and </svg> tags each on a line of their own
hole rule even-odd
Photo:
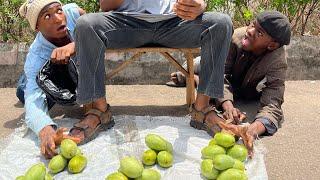
<svg viewBox="0 0 320 180">
<path fill-rule="evenodd" d="M 60 145 L 63 139 L 71 139 L 76 143 L 80 142 L 79 138 L 64 135 L 63 132 L 65 130 L 65 128 L 59 128 L 55 131 L 51 125 L 48 125 L 40 131 L 40 150 L 41 154 L 44 155 L 45 158 L 50 159 L 57 155 L 56 147 Z"/>
</svg>

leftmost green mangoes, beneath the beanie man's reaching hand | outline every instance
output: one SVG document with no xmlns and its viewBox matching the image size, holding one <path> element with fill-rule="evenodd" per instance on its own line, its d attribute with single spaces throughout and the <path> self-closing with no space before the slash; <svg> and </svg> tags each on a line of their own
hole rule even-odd
<svg viewBox="0 0 320 180">
<path fill-rule="evenodd" d="M 64 139 L 60 145 L 60 154 L 54 156 L 48 164 L 51 174 L 57 174 L 68 166 L 70 173 L 80 173 L 87 165 L 87 158 L 82 154 L 77 144 Z M 16 180 L 51 180 L 52 176 L 46 171 L 43 163 L 38 163 L 29 168 L 23 176 L 18 176 Z"/>
</svg>

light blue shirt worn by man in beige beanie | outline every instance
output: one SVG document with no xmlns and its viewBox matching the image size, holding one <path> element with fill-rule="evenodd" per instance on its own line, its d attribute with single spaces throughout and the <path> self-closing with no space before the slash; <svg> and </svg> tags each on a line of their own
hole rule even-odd
<svg viewBox="0 0 320 180">
<path fill-rule="evenodd" d="M 76 20 L 80 17 L 79 6 L 75 3 L 66 4 L 62 7 L 67 19 L 67 28 L 73 38 Z M 25 89 L 25 122 L 37 135 L 47 125 L 56 125 L 48 114 L 48 106 L 45 93 L 36 83 L 38 72 L 51 57 L 52 51 L 57 48 L 46 40 L 39 32 L 30 46 L 27 54 L 24 72 L 26 75 Z"/>
</svg>

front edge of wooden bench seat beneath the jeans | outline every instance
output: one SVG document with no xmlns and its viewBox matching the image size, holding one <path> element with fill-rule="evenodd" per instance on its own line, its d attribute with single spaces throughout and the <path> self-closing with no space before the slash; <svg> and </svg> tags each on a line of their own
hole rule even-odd
<svg viewBox="0 0 320 180">
<path fill-rule="evenodd" d="M 200 48 L 165 48 L 165 47 L 141 47 L 141 48 L 122 48 L 122 49 L 107 49 L 107 53 L 117 52 L 190 52 L 199 53 Z"/>
</svg>

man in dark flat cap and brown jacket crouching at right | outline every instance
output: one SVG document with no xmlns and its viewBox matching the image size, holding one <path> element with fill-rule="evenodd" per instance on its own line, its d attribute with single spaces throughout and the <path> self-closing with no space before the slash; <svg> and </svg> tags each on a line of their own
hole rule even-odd
<svg viewBox="0 0 320 180">
<path fill-rule="evenodd" d="M 258 135 L 273 135 L 283 120 L 281 105 L 287 70 L 283 45 L 289 44 L 290 35 L 287 17 L 277 11 L 259 14 L 248 27 L 238 28 L 233 34 L 225 64 L 224 98 L 215 99 L 215 104 L 223 110 L 225 119 L 240 122 L 243 115 L 234 107 L 234 97 L 260 99 L 258 113 L 248 120 L 251 124 L 247 134 L 242 134 L 250 139 L 248 144 L 252 144 L 253 137 Z M 200 58 L 194 59 L 194 64 L 197 74 L 202 68 Z M 196 84 L 199 84 L 198 79 L 195 77 Z M 169 86 L 185 84 L 181 72 L 172 73 L 171 80 L 167 83 Z M 240 133 L 233 125 L 225 128 Z"/>
</svg>

